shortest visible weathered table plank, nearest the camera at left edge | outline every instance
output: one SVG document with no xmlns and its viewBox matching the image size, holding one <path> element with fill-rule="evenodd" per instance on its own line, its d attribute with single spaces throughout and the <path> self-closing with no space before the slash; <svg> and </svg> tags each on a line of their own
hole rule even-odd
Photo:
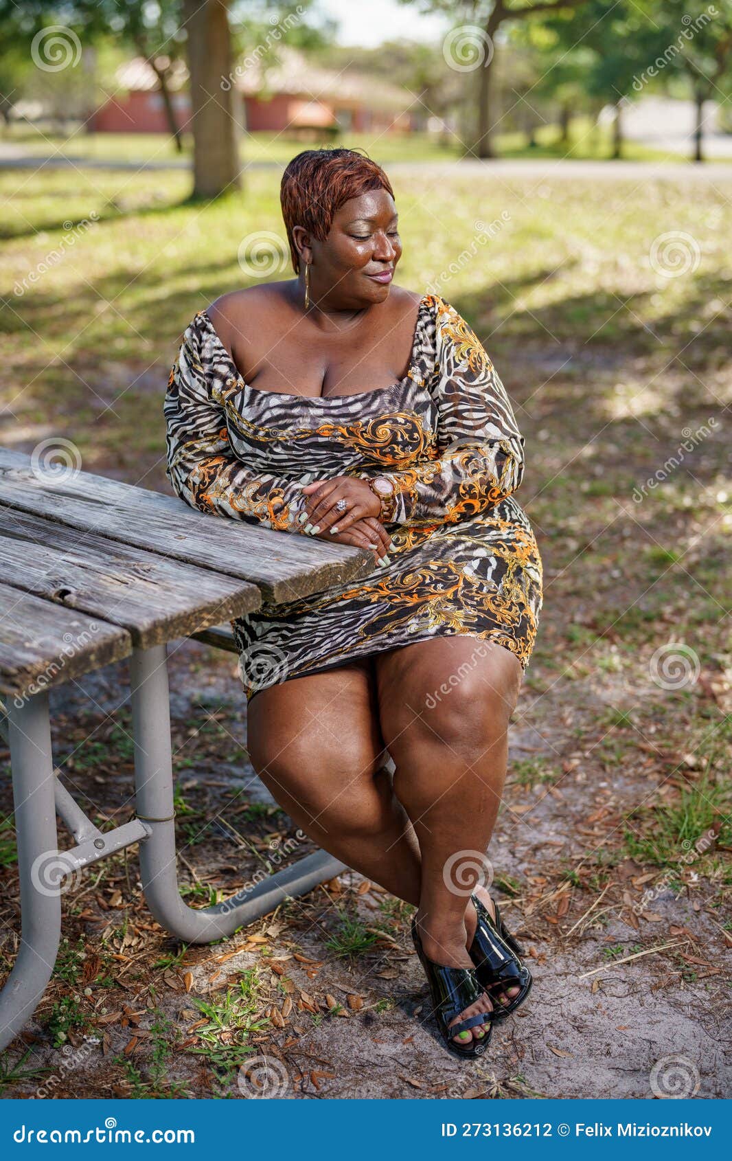
<svg viewBox="0 0 732 1161">
<path fill-rule="evenodd" d="M 0 584 L 0 692 L 26 699 L 131 652 L 118 625 Z"/>
</svg>

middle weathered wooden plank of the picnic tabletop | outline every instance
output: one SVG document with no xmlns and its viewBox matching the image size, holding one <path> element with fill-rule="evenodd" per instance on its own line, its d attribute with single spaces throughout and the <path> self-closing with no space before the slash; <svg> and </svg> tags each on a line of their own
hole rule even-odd
<svg viewBox="0 0 732 1161">
<path fill-rule="evenodd" d="M 261 605 L 247 580 L 2 506 L 0 582 L 121 625 L 140 649 Z"/>
</svg>

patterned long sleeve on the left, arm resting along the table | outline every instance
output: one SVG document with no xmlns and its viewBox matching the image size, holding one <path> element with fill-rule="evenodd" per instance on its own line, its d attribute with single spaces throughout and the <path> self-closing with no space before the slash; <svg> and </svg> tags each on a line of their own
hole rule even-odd
<svg viewBox="0 0 732 1161">
<path fill-rule="evenodd" d="M 177 496 L 202 512 L 298 532 L 300 488 L 249 471 L 231 448 L 220 387 L 204 373 L 200 323 L 197 315 L 183 332 L 168 378 L 166 475 Z"/>
</svg>

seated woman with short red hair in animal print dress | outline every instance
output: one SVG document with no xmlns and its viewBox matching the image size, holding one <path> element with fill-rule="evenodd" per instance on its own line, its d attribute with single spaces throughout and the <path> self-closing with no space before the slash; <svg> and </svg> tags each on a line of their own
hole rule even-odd
<svg viewBox="0 0 732 1161">
<path fill-rule="evenodd" d="M 249 756 L 296 825 L 416 907 L 444 1041 L 476 1057 L 531 985 L 478 885 L 542 605 L 524 440 L 458 312 L 393 284 L 378 165 L 307 150 L 281 202 L 296 277 L 187 327 L 167 471 L 204 512 L 372 551 L 365 578 L 232 621 Z"/>
</svg>

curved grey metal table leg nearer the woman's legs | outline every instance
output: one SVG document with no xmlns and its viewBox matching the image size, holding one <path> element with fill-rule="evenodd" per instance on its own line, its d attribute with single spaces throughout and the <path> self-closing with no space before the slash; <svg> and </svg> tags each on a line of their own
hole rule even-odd
<svg viewBox="0 0 732 1161">
<path fill-rule="evenodd" d="M 133 650 L 130 673 L 137 815 L 151 830 L 139 848 L 142 882 L 147 906 L 161 926 L 187 943 L 210 943 L 346 870 L 333 856 L 318 851 L 216 907 L 188 907 L 180 896 L 175 867 L 166 647 Z"/>
</svg>

